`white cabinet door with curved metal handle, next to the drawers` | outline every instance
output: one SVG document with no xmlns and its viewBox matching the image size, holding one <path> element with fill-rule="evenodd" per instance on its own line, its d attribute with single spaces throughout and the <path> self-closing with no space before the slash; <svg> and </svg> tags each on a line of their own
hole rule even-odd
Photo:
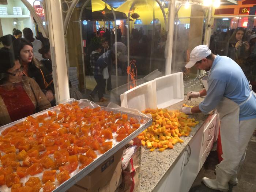
<svg viewBox="0 0 256 192">
<path fill-rule="evenodd" d="M 186 161 L 182 167 L 182 179 L 180 183 L 180 191 L 187 192 L 191 188 L 193 182 L 196 179 L 197 174 L 200 171 L 200 147 L 202 143 L 202 132 L 196 133 L 196 135 L 188 143 L 185 151 Z"/>
</svg>

